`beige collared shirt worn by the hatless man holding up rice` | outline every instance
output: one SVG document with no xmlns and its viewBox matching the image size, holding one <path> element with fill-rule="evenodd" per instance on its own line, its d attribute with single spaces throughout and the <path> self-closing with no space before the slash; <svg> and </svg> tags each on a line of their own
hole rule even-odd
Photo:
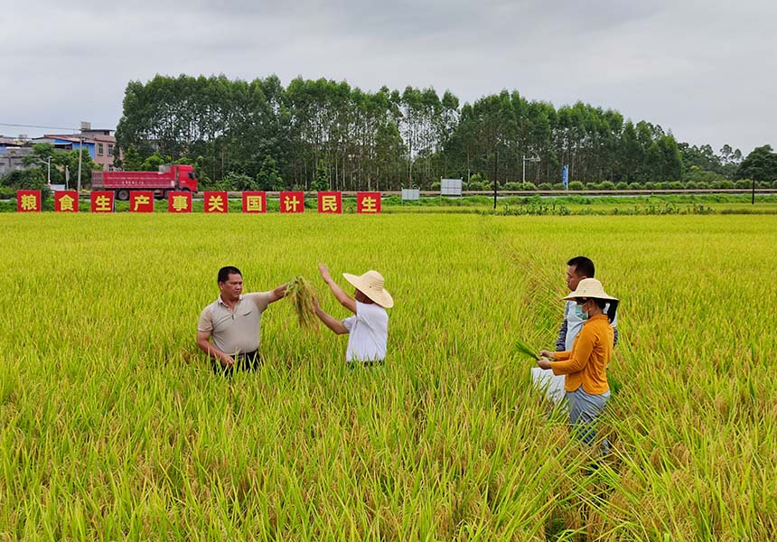
<svg viewBox="0 0 777 542">
<path fill-rule="evenodd" d="M 259 348 L 259 323 L 270 303 L 270 292 L 240 295 L 235 310 L 221 296 L 202 310 L 197 331 L 211 332 L 213 346 L 234 355 Z"/>
</svg>

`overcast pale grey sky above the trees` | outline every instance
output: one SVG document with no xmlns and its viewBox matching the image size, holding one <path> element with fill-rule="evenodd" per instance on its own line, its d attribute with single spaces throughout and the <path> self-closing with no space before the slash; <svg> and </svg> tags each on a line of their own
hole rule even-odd
<svg viewBox="0 0 777 542">
<path fill-rule="evenodd" d="M 0 134 L 115 128 L 127 81 L 276 74 L 578 100 L 679 141 L 777 147 L 773 0 L 3 0 Z"/>
</svg>

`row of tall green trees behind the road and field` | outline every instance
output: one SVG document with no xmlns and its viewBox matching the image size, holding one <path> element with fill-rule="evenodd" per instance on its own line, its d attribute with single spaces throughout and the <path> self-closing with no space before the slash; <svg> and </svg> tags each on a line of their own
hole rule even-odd
<svg viewBox="0 0 777 542">
<path fill-rule="evenodd" d="M 276 76 L 131 81 L 117 145 L 126 169 L 173 158 L 195 164 L 205 182 L 248 179 L 265 189 L 428 188 L 474 174 L 503 184 L 524 171 L 538 184 L 559 182 L 562 164 L 570 181 L 665 182 L 689 165 L 730 176 L 742 160 L 729 148 L 723 164 L 711 149 L 678 145 L 661 126 L 617 111 L 554 107 L 517 91 L 461 106 L 447 91 L 365 92 L 302 78 L 284 88 Z"/>
</svg>

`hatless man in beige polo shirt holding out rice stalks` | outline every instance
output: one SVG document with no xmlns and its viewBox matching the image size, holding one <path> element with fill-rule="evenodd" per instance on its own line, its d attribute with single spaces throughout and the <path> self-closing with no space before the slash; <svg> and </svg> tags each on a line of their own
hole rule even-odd
<svg viewBox="0 0 777 542">
<path fill-rule="evenodd" d="M 219 298 L 202 310 L 197 346 L 213 360 L 213 370 L 257 369 L 259 322 L 267 305 L 282 299 L 286 285 L 269 292 L 243 295 L 243 275 L 237 267 L 219 270 Z M 218 363 L 216 363 L 218 361 Z"/>
</svg>

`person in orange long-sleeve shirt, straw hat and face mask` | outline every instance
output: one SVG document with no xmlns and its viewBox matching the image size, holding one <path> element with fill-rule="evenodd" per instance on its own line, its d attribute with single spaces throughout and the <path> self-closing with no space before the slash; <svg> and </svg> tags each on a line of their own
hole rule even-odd
<svg viewBox="0 0 777 542">
<path fill-rule="evenodd" d="M 575 301 L 580 307 L 585 320 L 583 329 L 572 350 L 542 350 L 537 364 L 542 369 L 552 369 L 555 375 L 566 375 L 564 389 L 573 435 L 585 444 L 592 444 L 596 421 L 610 398 L 607 365 L 613 359 L 614 339 L 610 318 L 617 310 L 618 299 L 606 294 L 602 283 L 595 278 L 585 278 L 564 300 Z M 607 304 L 610 309 L 604 313 Z M 609 443 L 604 441 L 602 450 L 607 453 Z"/>
</svg>

